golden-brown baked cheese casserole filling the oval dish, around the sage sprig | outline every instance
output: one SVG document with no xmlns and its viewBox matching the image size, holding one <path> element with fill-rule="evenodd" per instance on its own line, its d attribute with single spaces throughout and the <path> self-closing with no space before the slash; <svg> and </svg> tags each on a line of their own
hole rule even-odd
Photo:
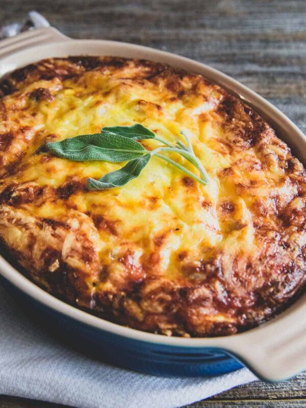
<svg viewBox="0 0 306 408">
<path fill-rule="evenodd" d="M 200 75 L 47 59 L 0 80 L 0 119 L 0 241 L 50 293 L 140 330 L 205 337 L 256 326 L 301 291 L 304 167 L 253 109 Z M 88 191 L 88 177 L 120 164 L 45 147 L 135 123 L 172 143 L 186 131 L 209 183 L 153 157 L 128 185 Z"/>
</svg>

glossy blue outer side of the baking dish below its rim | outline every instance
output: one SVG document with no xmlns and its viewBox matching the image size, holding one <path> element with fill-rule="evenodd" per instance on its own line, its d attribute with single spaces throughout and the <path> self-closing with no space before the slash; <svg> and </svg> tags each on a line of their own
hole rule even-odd
<svg viewBox="0 0 306 408">
<path fill-rule="evenodd" d="M 1 276 L 1 283 L 50 335 L 96 359 L 160 376 L 215 376 L 243 365 L 222 349 L 179 347 L 128 339 L 46 307 Z"/>
</svg>

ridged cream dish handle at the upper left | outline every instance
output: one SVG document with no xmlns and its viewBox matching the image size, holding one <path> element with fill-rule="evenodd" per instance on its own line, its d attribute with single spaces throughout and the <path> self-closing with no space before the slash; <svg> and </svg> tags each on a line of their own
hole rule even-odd
<svg viewBox="0 0 306 408">
<path fill-rule="evenodd" d="M 35 45 L 48 44 L 50 42 L 69 41 L 70 38 L 60 33 L 53 27 L 42 27 L 26 31 L 15 37 L 0 41 L 0 61 L 2 58 L 20 50 Z"/>
</svg>

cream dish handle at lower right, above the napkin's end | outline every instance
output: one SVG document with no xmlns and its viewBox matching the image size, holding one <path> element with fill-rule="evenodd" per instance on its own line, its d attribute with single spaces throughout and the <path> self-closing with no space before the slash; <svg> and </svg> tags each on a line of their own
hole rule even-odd
<svg viewBox="0 0 306 408">
<path fill-rule="evenodd" d="M 306 293 L 269 322 L 235 335 L 224 349 L 268 381 L 284 381 L 306 368 Z"/>
</svg>

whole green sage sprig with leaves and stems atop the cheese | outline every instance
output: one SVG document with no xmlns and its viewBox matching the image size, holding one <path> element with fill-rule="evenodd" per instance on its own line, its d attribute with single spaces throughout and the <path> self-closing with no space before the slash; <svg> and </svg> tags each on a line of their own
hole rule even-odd
<svg viewBox="0 0 306 408">
<path fill-rule="evenodd" d="M 136 179 L 152 156 L 166 161 L 181 170 L 202 185 L 208 183 L 208 174 L 199 159 L 195 156 L 190 139 L 181 132 L 187 145 L 177 140 L 172 145 L 166 140 L 157 137 L 153 132 L 137 123 L 133 126 L 103 127 L 101 133 L 71 137 L 61 142 L 47 143 L 47 147 L 57 156 L 73 161 L 107 161 L 119 163 L 129 161 L 121 169 L 105 174 L 99 180 L 89 177 L 86 183 L 88 190 L 105 190 L 124 186 L 129 181 Z M 155 139 L 163 144 L 154 150 L 146 150 L 137 140 Z M 183 156 L 196 167 L 200 177 L 163 152 L 174 152 Z"/>
</svg>

